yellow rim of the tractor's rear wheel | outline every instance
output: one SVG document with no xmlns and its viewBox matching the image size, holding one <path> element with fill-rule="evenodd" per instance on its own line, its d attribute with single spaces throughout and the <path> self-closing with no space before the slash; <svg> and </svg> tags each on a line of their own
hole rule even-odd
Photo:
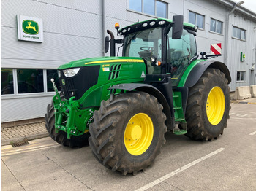
<svg viewBox="0 0 256 191">
<path fill-rule="evenodd" d="M 208 94 L 206 114 L 212 125 L 217 125 L 225 111 L 225 96 L 220 87 L 213 87 Z"/>
</svg>

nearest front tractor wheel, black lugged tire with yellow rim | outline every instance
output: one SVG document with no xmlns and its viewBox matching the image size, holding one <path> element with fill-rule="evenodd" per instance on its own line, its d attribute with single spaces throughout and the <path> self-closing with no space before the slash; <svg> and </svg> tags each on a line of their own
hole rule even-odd
<svg viewBox="0 0 256 191">
<path fill-rule="evenodd" d="M 148 93 L 111 95 L 94 112 L 89 144 L 99 163 L 136 174 L 151 165 L 165 144 L 165 114 L 157 98 Z"/>
</svg>

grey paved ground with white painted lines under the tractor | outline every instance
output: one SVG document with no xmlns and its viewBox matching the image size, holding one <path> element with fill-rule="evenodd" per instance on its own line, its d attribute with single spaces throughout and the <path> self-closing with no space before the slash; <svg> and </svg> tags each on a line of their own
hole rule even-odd
<svg viewBox="0 0 256 191">
<path fill-rule="evenodd" d="M 154 165 L 136 176 L 105 168 L 89 147 L 62 147 L 50 137 L 1 147 L 1 190 L 256 190 L 256 104 L 231 107 L 219 139 L 166 133 Z"/>
</svg>

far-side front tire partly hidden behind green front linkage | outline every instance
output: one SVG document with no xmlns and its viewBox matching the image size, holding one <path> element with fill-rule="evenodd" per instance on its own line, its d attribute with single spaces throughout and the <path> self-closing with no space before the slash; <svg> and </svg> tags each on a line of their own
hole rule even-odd
<svg viewBox="0 0 256 191">
<path fill-rule="evenodd" d="M 64 99 L 64 95 L 61 94 L 61 99 Z M 89 145 L 88 139 L 90 136 L 89 132 L 84 133 L 81 136 L 71 136 L 67 139 L 67 133 L 59 130 L 59 133 L 55 132 L 55 115 L 53 101 L 47 106 L 47 112 L 45 114 L 45 128 L 48 131 L 50 137 L 59 144 L 67 147 L 84 147 Z"/>
</svg>

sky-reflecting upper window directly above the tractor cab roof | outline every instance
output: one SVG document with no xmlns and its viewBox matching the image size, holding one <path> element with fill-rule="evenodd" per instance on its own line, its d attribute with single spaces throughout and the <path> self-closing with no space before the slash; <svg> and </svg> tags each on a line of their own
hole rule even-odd
<svg viewBox="0 0 256 191">
<path fill-rule="evenodd" d="M 167 3 L 157 0 L 129 0 L 129 9 L 167 18 Z"/>
</svg>

